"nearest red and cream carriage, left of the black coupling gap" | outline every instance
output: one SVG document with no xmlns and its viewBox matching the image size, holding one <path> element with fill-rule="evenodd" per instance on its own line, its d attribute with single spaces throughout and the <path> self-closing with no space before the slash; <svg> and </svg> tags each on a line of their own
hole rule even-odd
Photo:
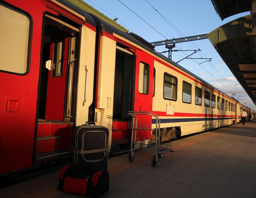
<svg viewBox="0 0 256 198">
<path fill-rule="evenodd" d="M 0 174 L 70 157 L 93 101 L 94 20 L 65 0 L 1 0 L 0 28 Z"/>
</svg>

